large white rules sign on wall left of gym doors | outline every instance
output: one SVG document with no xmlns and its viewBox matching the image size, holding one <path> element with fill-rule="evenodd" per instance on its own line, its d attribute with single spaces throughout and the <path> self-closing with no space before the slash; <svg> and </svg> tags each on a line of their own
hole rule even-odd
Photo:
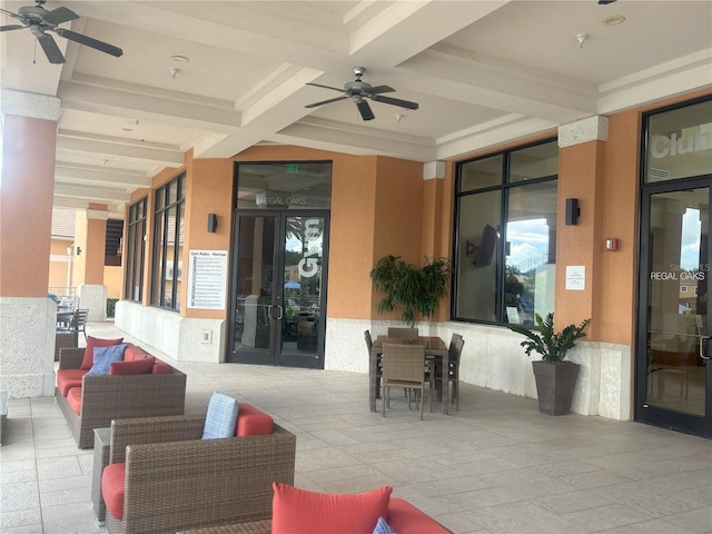
<svg viewBox="0 0 712 534">
<path fill-rule="evenodd" d="M 188 307 L 225 309 L 227 250 L 190 250 Z"/>
</svg>

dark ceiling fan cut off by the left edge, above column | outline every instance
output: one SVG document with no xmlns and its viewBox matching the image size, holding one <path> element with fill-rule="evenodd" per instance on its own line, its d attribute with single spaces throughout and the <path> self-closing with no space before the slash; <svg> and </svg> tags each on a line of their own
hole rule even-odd
<svg viewBox="0 0 712 534">
<path fill-rule="evenodd" d="M 17 13 L 0 8 L 0 12 L 22 22 L 21 24 L 2 26 L 0 27 L 0 31 L 23 30 L 29 28 L 30 32 L 37 38 L 38 42 L 42 47 L 44 56 L 47 56 L 50 63 L 63 63 L 65 56 L 62 56 L 62 52 L 59 50 L 59 47 L 57 46 L 57 42 L 55 42 L 52 36 L 46 33 L 47 31 L 53 31 L 65 39 L 91 47 L 101 52 L 110 53 L 117 58 L 123 53 L 120 48 L 112 44 L 99 41 L 91 37 L 82 36 L 76 31 L 59 28 L 59 24 L 79 18 L 79 16 L 71 9 L 57 8 L 48 11 L 42 7 L 47 0 L 34 1 L 37 2 L 37 6 L 24 6 L 20 8 Z"/>
</svg>

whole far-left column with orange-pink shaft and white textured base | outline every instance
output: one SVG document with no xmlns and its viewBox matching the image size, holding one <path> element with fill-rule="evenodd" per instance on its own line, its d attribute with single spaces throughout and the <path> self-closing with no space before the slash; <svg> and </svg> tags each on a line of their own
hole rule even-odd
<svg viewBox="0 0 712 534">
<path fill-rule="evenodd" d="M 55 392 L 57 305 L 47 297 L 60 101 L 3 90 L 0 195 L 0 389 Z"/>
</svg>

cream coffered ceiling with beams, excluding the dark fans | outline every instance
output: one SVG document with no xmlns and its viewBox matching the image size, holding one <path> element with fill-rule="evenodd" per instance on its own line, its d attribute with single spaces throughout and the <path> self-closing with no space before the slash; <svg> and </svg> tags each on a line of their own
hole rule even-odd
<svg viewBox="0 0 712 534">
<path fill-rule="evenodd" d="M 28 4 L 1 2 L 12 12 Z M 61 99 L 57 207 L 122 212 L 134 189 L 190 148 L 229 158 L 289 144 L 432 161 L 712 87 L 710 1 L 44 6 L 59 7 L 79 14 L 61 27 L 123 55 L 52 33 L 67 61 L 51 65 L 29 29 L 0 33 L 2 89 Z M 624 21 L 611 23 L 616 16 Z M 376 118 L 364 121 L 348 99 L 305 108 L 340 95 L 307 82 L 342 88 L 357 66 L 363 81 L 419 109 L 370 102 Z"/>
</svg>

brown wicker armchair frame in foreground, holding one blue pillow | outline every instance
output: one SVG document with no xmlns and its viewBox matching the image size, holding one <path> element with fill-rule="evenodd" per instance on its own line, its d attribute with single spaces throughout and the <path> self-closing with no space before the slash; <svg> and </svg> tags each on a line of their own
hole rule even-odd
<svg viewBox="0 0 712 534">
<path fill-rule="evenodd" d="M 200 439 L 205 415 L 111 423 L 109 463 L 126 463 L 121 521 L 107 511 L 110 534 L 152 534 L 265 521 L 274 481 L 294 484 L 296 436 Z"/>
</svg>

